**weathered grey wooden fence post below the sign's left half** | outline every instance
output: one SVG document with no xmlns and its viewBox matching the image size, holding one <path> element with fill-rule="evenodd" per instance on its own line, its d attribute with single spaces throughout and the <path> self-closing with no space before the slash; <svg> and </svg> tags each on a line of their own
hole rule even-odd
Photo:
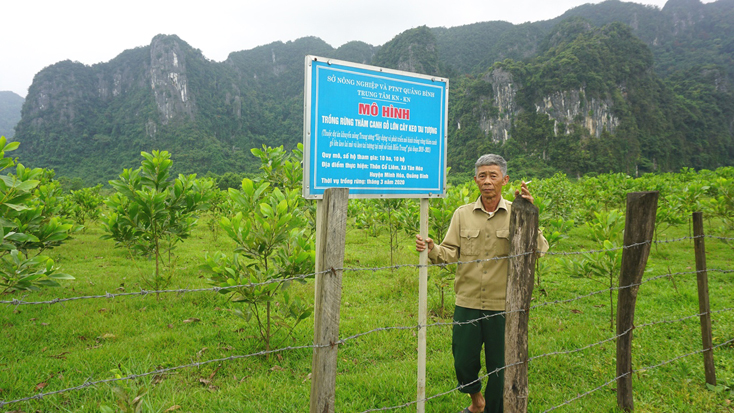
<svg viewBox="0 0 734 413">
<path fill-rule="evenodd" d="M 334 413 L 339 307 L 347 228 L 348 188 L 324 191 L 317 211 L 314 347 L 311 370 L 311 413 Z M 321 273 L 331 270 L 327 273 Z M 325 346 L 325 347 L 319 347 Z"/>
</svg>

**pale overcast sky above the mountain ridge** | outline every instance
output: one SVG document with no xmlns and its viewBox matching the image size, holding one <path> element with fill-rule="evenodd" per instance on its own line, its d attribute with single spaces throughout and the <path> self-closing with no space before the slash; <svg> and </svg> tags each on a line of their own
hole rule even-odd
<svg viewBox="0 0 734 413">
<path fill-rule="evenodd" d="M 704 0 L 709 2 L 711 0 Z M 548 20 L 598 0 L 3 0 L 0 91 L 23 97 L 33 76 L 70 59 L 107 62 L 123 50 L 175 34 L 212 60 L 274 41 L 320 37 L 382 45 L 422 25 L 454 27 L 503 20 Z M 637 3 L 663 7 L 665 0 Z"/>
</svg>

